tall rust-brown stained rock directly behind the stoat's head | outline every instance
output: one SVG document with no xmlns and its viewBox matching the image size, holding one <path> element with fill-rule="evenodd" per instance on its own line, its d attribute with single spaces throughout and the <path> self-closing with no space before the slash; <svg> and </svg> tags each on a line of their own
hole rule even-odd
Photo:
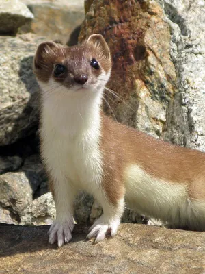
<svg viewBox="0 0 205 274">
<path fill-rule="evenodd" d="M 118 121 L 160 136 L 174 94 L 169 25 L 155 1 L 94 0 L 79 41 L 102 34 L 111 49 L 113 71 L 105 99 Z M 126 103 L 122 103 L 124 100 Z M 105 111 L 112 114 L 109 106 Z"/>
</svg>

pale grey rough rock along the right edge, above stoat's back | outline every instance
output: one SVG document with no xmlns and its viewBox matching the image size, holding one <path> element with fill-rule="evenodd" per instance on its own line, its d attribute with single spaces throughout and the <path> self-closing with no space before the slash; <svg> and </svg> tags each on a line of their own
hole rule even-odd
<svg viewBox="0 0 205 274">
<path fill-rule="evenodd" d="M 169 17 L 178 93 L 169 106 L 163 137 L 205 151 L 205 2 L 160 1 Z"/>
</svg>

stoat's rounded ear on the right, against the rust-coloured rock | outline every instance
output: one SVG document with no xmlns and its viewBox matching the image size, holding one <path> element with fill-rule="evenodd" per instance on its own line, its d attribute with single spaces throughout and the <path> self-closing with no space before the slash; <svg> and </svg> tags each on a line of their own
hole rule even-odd
<svg viewBox="0 0 205 274">
<path fill-rule="evenodd" d="M 96 49 L 105 56 L 105 58 L 111 58 L 109 47 L 105 38 L 101 34 L 92 34 L 87 39 L 87 44 L 93 45 Z"/>
</svg>

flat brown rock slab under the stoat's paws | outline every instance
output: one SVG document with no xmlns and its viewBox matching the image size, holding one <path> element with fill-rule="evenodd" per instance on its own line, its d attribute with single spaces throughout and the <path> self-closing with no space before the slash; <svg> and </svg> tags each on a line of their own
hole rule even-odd
<svg viewBox="0 0 205 274">
<path fill-rule="evenodd" d="M 1 273 L 180 273 L 205 271 L 205 234 L 124 224 L 93 245 L 76 226 L 64 247 L 49 245 L 48 226 L 0 225 Z"/>
</svg>

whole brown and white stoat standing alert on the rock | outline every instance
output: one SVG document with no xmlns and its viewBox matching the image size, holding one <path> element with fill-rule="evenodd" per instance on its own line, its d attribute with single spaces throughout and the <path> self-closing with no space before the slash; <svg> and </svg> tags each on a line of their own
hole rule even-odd
<svg viewBox="0 0 205 274">
<path fill-rule="evenodd" d="M 100 34 L 74 47 L 44 42 L 33 67 L 42 89 L 41 155 L 57 212 L 49 242 L 61 246 L 72 238 L 79 190 L 103 209 L 87 235 L 96 242 L 116 234 L 125 197 L 143 214 L 205 229 L 205 153 L 156 140 L 102 113 L 111 55 Z"/>
</svg>

